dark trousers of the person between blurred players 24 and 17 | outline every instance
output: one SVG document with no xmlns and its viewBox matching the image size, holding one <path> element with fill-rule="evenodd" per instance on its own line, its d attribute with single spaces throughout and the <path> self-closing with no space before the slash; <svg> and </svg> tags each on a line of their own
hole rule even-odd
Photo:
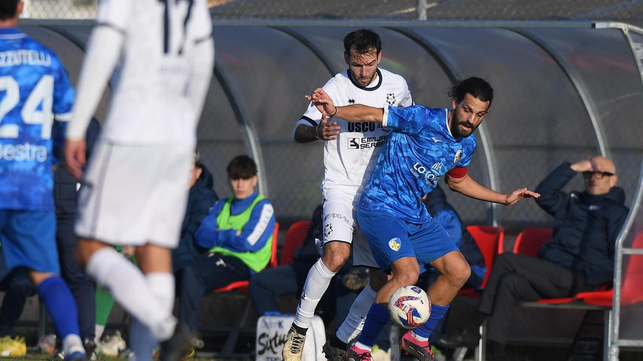
<svg viewBox="0 0 643 361">
<path fill-rule="evenodd" d="M 83 339 L 95 339 L 96 294 L 91 278 L 75 259 L 77 238 L 74 233 L 74 218 L 57 218 L 56 243 L 60 258 L 60 276 L 65 280 L 76 299 L 78 324 Z"/>
</svg>

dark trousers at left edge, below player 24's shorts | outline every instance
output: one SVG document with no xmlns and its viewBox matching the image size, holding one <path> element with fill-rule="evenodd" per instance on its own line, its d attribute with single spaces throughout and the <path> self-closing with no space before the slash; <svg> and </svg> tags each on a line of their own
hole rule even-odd
<svg viewBox="0 0 643 361">
<path fill-rule="evenodd" d="M 0 254 L 0 290 L 5 291 L 2 308 L 0 308 L 0 337 L 13 335 L 15 324 L 23 314 L 27 297 L 35 295 L 27 269 L 18 267 L 8 272 L 5 257 Z"/>
</svg>

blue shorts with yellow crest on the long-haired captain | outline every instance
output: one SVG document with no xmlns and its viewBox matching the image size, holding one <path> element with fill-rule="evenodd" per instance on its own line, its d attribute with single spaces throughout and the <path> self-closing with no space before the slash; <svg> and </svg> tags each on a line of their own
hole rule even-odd
<svg viewBox="0 0 643 361">
<path fill-rule="evenodd" d="M 400 258 L 415 257 L 422 273 L 431 268 L 429 263 L 449 252 L 459 251 L 444 227 L 433 218 L 424 224 L 413 224 L 390 213 L 359 208 L 358 222 L 368 238 L 377 265 L 385 271 Z"/>
</svg>

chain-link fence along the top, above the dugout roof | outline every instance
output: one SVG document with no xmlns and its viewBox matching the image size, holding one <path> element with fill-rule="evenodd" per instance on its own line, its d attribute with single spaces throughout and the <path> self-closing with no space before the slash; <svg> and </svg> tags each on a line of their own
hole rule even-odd
<svg viewBox="0 0 643 361">
<path fill-rule="evenodd" d="M 636 0 L 208 0 L 213 19 L 601 20 L 643 22 Z M 93 19 L 96 0 L 26 0 L 23 17 Z"/>
</svg>

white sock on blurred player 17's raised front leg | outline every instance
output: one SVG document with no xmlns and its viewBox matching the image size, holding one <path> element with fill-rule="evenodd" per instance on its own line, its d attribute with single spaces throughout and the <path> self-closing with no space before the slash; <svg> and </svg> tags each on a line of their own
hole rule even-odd
<svg viewBox="0 0 643 361">
<path fill-rule="evenodd" d="M 129 260 L 112 247 L 103 247 L 87 261 L 87 274 L 111 294 L 132 317 L 141 321 L 159 340 L 172 337 L 176 317 L 167 310 L 148 285 L 147 279 Z"/>
</svg>

